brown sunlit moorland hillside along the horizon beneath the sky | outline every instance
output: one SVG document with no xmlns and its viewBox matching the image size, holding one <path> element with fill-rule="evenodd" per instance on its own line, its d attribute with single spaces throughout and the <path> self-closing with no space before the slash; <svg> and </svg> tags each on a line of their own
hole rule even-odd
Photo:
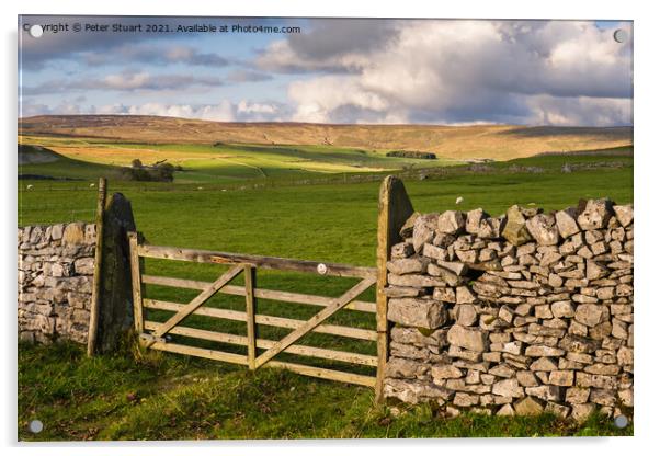
<svg viewBox="0 0 660 456">
<path fill-rule="evenodd" d="M 323 145 L 434 152 L 437 157 L 459 160 L 505 160 L 546 151 L 602 149 L 633 144 L 631 127 L 227 123 L 128 115 L 26 117 L 19 121 L 19 134 L 153 144 Z"/>
</svg>

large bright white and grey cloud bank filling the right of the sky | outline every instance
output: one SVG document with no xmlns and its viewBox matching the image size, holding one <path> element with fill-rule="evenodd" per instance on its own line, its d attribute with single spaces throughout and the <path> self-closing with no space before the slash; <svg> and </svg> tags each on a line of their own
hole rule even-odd
<svg viewBox="0 0 660 456">
<path fill-rule="evenodd" d="M 297 121 L 631 123 L 631 43 L 593 22 L 385 23 L 372 41 L 356 38 L 368 24 L 337 41 L 317 32 L 277 41 L 255 65 L 325 73 L 291 83 Z"/>
</svg>

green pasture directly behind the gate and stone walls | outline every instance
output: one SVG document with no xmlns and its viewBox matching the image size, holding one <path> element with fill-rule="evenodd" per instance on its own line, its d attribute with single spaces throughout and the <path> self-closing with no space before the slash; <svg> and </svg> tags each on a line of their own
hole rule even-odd
<svg viewBox="0 0 660 456">
<path fill-rule="evenodd" d="M 593 162 L 593 158 L 591 158 Z M 496 163 L 488 172 L 456 172 L 406 185 L 420 212 L 442 212 L 456 207 L 483 207 L 493 215 L 512 204 L 536 205 L 546 210 L 578 203 L 580 197 L 610 196 L 627 203 L 633 200 L 633 169 L 629 157 L 603 157 L 599 162 L 621 162 L 622 168 L 561 172 L 566 162 L 589 163 L 584 157 L 539 157 Z M 510 171 L 515 167 L 543 167 L 544 172 Z M 515 168 L 514 168 L 515 169 Z M 30 183 L 29 183 L 30 182 Z M 93 217 L 95 189 L 86 182 L 21 181 L 21 225 L 56 223 Z M 27 185 L 32 185 L 27 190 Z M 133 204 L 136 224 L 147 242 L 160 246 L 219 250 L 273 256 L 375 265 L 378 183 L 273 186 L 259 190 L 225 191 L 223 185 L 198 190 L 185 184 L 140 184 L 110 182 L 111 192 L 121 192 Z M 83 215 L 87 217 L 75 217 Z M 146 273 L 213 282 L 225 269 L 177 261 L 147 260 Z M 240 284 L 241 278 L 236 283 Z M 287 292 L 339 296 L 355 281 L 287 273 L 259 272 L 259 286 Z M 373 295 L 373 293 L 372 293 Z M 148 286 L 147 296 L 186 303 L 194 290 Z M 363 298 L 373 298 L 368 292 Z M 242 309 L 239 297 L 220 295 L 210 306 Z M 260 311 L 280 317 L 309 318 L 317 308 L 260 300 Z M 150 311 L 156 321 L 167 312 Z M 345 310 L 330 322 L 373 328 L 373 316 Z M 204 329 L 241 333 L 240 322 L 192 317 L 187 323 Z M 287 330 L 263 327 L 264 337 L 280 339 Z M 327 346 L 332 338 L 310 334 L 304 342 Z M 334 342 L 337 343 L 337 342 Z M 373 353 L 373 343 L 341 340 L 346 350 Z M 217 345 L 216 343 L 206 346 Z M 223 350 L 239 350 L 223 346 Z M 323 362 L 325 363 L 325 362 Z M 361 369 L 363 371 L 363 369 Z"/>
</svg>

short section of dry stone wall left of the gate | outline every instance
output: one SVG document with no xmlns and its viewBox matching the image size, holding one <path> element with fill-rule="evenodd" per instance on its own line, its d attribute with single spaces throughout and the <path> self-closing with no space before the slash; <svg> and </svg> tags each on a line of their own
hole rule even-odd
<svg viewBox="0 0 660 456">
<path fill-rule="evenodd" d="M 87 342 L 96 226 L 19 228 L 19 338 Z"/>
</svg>

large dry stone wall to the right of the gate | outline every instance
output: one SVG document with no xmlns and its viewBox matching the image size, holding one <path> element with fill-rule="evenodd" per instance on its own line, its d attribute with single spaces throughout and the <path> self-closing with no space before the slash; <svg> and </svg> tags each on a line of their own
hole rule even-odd
<svg viewBox="0 0 660 456">
<path fill-rule="evenodd" d="M 388 262 L 385 396 L 582 420 L 633 407 L 633 207 L 413 214 Z"/>
</svg>

